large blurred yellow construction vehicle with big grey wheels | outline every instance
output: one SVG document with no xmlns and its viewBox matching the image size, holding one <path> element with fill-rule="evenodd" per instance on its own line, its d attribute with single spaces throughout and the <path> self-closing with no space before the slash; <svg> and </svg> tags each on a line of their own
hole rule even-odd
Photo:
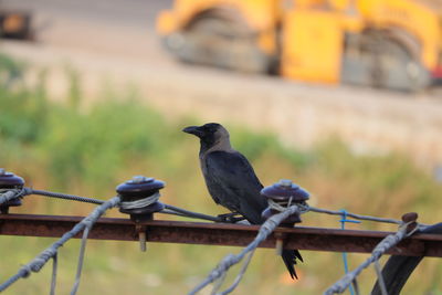
<svg viewBox="0 0 442 295">
<path fill-rule="evenodd" d="M 441 0 L 175 0 L 157 31 L 189 63 L 401 91 L 442 78 Z"/>
</svg>

